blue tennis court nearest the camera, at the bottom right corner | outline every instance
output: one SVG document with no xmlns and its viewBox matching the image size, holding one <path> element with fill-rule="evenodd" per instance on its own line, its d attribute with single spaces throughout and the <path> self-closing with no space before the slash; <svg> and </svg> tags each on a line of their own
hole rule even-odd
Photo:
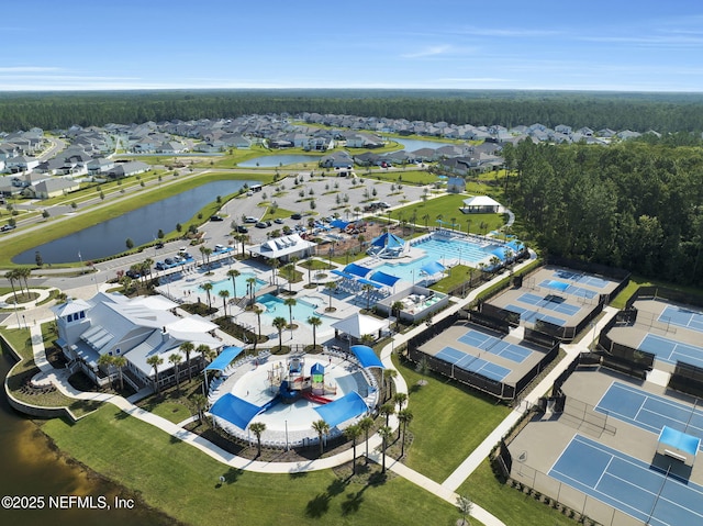
<svg viewBox="0 0 703 526">
<path fill-rule="evenodd" d="M 651 526 L 701 524 L 703 488 L 576 435 L 549 477 Z"/>
</svg>

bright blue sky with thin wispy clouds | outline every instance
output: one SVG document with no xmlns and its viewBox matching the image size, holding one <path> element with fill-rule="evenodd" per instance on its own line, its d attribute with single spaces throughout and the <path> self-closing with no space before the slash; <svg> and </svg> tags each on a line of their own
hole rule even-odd
<svg viewBox="0 0 703 526">
<path fill-rule="evenodd" d="M 0 91 L 703 90 L 703 2 L 30 0 Z"/>
</svg>

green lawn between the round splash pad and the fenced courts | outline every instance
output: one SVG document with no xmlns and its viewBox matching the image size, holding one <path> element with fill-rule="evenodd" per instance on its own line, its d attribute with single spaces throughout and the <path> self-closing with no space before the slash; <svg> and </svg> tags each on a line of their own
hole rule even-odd
<svg viewBox="0 0 703 526">
<path fill-rule="evenodd" d="M 412 363 L 399 365 L 394 360 L 408 382 L 409 407 L 414 415 L 410 425 L 413 444 L 406 463 L 443 482 L 505 418 L 510 409 L 440 377 L 428 377 L 426 385 L 417 387 L 422 377 Z"/>
</svg>

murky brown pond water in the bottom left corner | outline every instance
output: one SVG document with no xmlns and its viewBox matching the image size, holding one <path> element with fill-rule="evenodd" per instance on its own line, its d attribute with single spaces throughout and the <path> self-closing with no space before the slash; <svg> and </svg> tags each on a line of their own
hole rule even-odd
<svg viewBox="0 0 703 526">
<path fill-rule="evenodd" d="M 0 355 L 0 377 L 4 382 L 14 361 Z M 81 468 L 69 465 L 49 447 L 49 441 L 25 416 L 15 412 L 4 396 L 0 396 L 0 450 L 2 451 L 1 495 L 81 495 L 129 497 L 123 490 L 110 482 L 88 477 Z M 163 514 L 144 505 L 135 510 L 34 510 L 0 512 L 3 524 L 82 526 L 160 526 L 172 524 Z"/>
</svg>

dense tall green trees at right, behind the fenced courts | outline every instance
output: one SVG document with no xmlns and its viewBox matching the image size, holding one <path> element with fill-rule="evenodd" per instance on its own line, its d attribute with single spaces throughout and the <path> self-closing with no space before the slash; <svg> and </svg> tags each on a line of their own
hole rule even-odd
<svg viewBox="0 0 703 526">
<path fill-rule="evenodd" d="M 504 148 L 506 199 L 548 254 L 703 286 L 703 149 L 525 141 Z"/>
</svg>

